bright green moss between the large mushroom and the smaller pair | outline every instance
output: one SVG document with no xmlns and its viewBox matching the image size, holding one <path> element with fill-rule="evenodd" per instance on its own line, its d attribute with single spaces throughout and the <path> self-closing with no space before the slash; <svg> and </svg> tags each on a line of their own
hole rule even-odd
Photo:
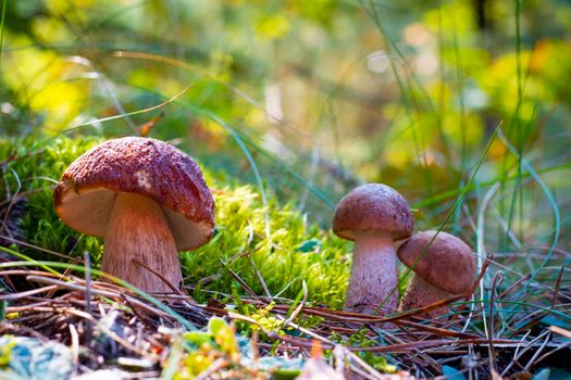
<svg viewBox="0 0 571 380">
<path fill-rule="evenodd" d="M 220 278 L 209 289 L 227 294 L 235 281 L 232 270 L 257 294 L 264 294 L 263 280 L 272 295 L 293 299 L 306 281 L 309 300 L 340 306 L 348 279 L 345 242 L 306 224 L 291 205 L 280 207 L 271 199 L 264 206 L 248 186 L 225 186 L 215 201 L 214 239 L 183 255 L 190 283 L 216 274 Z M 303 252 L 307 242 L 314 244 L 310 252 Z"/>
</svg>

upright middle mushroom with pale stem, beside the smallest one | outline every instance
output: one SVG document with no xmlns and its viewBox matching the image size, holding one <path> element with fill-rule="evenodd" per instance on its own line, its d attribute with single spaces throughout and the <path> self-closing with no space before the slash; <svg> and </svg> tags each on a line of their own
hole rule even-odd
<svg viewBox="0 0 571 380">
<path fill-rule="evenodd" d="M 335 210 L 333 231 L 355 240 L 345 306 L 356 313 L 395 312 L 398 266 L 395 240 L 412 233 L 414 220 L 405 198 L 393 188 L 368 183 L 352 189 Z"/>
</svg>

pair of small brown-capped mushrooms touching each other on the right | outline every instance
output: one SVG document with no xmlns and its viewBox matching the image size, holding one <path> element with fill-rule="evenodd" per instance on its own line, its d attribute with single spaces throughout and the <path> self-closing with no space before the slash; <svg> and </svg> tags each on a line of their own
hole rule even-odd
<svg viewBox="0 0 571 380">
<path fill-rule="evenodd" d="M 347 311 L 384 315 L 470 292 L 476 270 L 470 246 L 446 232 L 410 237 L 413 225 L 405 198 L 386 185 L 357 187 L 339 201 L 333 231 L 355 241 Z M 407 238 L 397 251 L 396 241 Z M 415 273 L 398 307 L 397 255 Z M 448 312 L 442 306 L 421 316 L 434 318 Z"/>
</svg>

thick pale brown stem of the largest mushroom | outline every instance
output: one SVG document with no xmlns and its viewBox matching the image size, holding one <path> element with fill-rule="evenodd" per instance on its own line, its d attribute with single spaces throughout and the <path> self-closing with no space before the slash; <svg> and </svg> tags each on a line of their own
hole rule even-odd
<svg viewBox="0 0 571 380">
<path fill-rule="evenodd" d="M 145 263 L 171 284 L 183 275 L 173 235 L 161 206 L 150 198 L 119 193 L 105 232 L 101 269 L 146 291 L 172 293 L 161 278 L 134 261 Z"/>
</svg>

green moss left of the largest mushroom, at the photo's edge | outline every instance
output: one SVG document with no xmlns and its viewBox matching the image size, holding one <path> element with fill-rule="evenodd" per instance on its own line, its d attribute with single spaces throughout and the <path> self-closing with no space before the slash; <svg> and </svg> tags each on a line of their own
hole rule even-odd
<svg viewBox="0 0 571 380">
<path fill-rule="evenodd" d="M 33 139 L 0 140 L 0 161 L 5 160 L 2 167 L 4 186 L 0 195 L 8 201 L 12 200 L 8 195 L 23 195 L 25 213 L 20 223 L 29 243 L 78 256 L 87 251 L 92 262 L 96 265 L 99 263 L 101 240 L 80 236 L 61 223 L 53 211 L 52 191 L 67 165 L 100 141 L 96 138 L 55 138 L 42 142 Z M 16 202 L 18 200 L 15 199 Z M 34 258 L 55 257 L 34 251 Z"/>
</svg>

